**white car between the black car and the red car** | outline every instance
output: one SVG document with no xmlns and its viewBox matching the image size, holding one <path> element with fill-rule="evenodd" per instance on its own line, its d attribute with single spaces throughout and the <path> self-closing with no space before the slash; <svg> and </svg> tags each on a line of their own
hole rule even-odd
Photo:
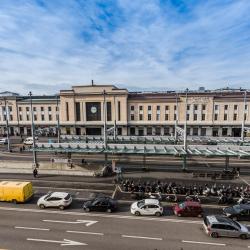
<svg viewBox="0 0 250 250">
<path fill-rule="evenodd" d="M 161 216 L 163 214 L 163 207 L 157 199 L 145 199 L 134 202 L 130 211 L 132 214 L 139 215 L 156 215 Z"/>
</svg>

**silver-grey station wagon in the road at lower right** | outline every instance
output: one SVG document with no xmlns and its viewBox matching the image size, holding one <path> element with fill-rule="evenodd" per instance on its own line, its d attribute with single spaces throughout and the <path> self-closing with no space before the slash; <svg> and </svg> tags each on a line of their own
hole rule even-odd
<svg viewBox="0 0 250 250">
<path fill-rule="evenodd" d="M 213 238 L 225 236 L 247 239 L 250 236 L 245 225 L 221 215 L 205 216 L 203 227 L 205 232 Z"/>
</svg>

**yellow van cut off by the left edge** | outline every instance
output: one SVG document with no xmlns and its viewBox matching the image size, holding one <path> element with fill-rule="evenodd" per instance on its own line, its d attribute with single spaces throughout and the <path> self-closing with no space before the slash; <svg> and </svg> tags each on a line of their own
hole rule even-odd
<svg viewBox="0 0 250 250">
<path fill-rule="evenodd" d="M 26 202 L 33 196 L 31 182 L 0 181 L 0 201 Z"/>
</svg>

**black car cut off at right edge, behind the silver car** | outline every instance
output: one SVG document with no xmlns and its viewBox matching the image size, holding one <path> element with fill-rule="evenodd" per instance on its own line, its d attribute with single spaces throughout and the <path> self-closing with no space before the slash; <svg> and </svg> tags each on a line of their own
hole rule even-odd
<svg viewBox="0 0 250 250">
<path fill-rule="evenodd" d="M 223 209 L 223 213 L 233 220 L 250 220 L 250 204 L 239 204 Z"/>
</svg>

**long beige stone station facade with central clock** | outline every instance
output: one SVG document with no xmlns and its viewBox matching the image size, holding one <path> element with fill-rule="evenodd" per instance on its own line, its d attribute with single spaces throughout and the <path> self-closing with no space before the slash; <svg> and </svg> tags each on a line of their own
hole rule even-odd
<svg viewBox="0 0 250 250">
<path fill-rule="evenodd" d="M 30 97 L 0 96 L 0 133 L 8 122 L 10 134 L 30 135 Z M 56 128 L 59 119 L 61 134 L 101 135 L 105 120 L 118 135 L 137 136 L 173 135 L 176 123 L 183 127 L 186 120 L 188 135 L 195 136 L 239 137 L 243 121 L 250 127 L 250 92 L 240 89 L 128 92 L 113 85 L 73 86 L 59 95 L 32 96 L 32 104 L 36 129 Z"/>
</svg>

